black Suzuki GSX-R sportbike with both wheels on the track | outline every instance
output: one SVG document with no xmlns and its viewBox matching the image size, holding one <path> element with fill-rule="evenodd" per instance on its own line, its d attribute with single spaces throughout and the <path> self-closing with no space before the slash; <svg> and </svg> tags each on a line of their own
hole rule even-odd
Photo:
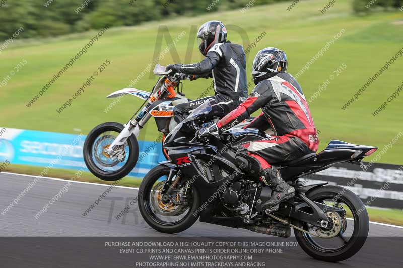
<svg viewBox="0 0 403 268">
<path fill-rule="evenodd" d="M 290 237 L 291 227 L 301 248 L 323 261 L 345 260 L 365 243 L 368 213 L 350 190 L 327 183 L 304 185 L 299 178 L 334 164 L 361 160 L 377 148 L 332 140 L 322 152 L 281 163 L 280 172 L 295 188 L 295 197 L 266 213 L 262 204 L 272 190 L 258 178 L 242 173 L 235 152 L 243 144 L 267 138 L 256 129 L 237 129 L 200 140 L 198 130 L 216 118 L 209 102 L 193 111 L 166 137 L 163 148 L 171 161 L 150 170 L 139 189 L 144 220 L 164 233 L 186 230 L 201 222 L 279 237 Z"/>
</svg>

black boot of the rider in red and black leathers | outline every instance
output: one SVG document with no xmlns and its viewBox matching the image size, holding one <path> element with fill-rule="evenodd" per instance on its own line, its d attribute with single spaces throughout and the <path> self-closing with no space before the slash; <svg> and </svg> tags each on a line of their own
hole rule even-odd
<svg viewBox="0 0 403 268">
<path fill-rule="evenodd" d="M 270 199 L 262 205 L 262 209 L 265 210 L 267 214 L 278 210 L 281 202 L 286 201 L 295 195 L 294 187 L 290 186 L 283 180 L 279 170 L 274 166 L 264 169 L 260 173 L 260 178 L 273 190 Z"/>
</svg>

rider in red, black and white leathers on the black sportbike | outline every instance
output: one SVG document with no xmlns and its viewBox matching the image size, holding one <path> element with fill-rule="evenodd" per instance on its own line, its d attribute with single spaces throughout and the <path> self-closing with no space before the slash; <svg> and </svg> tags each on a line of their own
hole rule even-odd
<svg viewBox="0 0 403 268">
<path fill-rule="evenodd" d="M 249 173 L 259 170 L 262 183 L 273 189 L 271 198 L 262 206 L 266 213 L 277 210 L 280 202 L 295 193 L 272 165 L 315 153 L 319 145 L 306 98 L 298 82 L 286 70 L 287 56 L 282 50 L 260 50 L 253 61 L 252 76 L 256 87 L 249 97 L 217 124 L 199 133 L 200 137 L 219 135 L 259 108 L 262 110 L 245 128 L 265 130 L 272 127 L 275 135 L 243 145 L 237 152 L 237 162 L 246 165 L 244 171 Z"/>
</svg>

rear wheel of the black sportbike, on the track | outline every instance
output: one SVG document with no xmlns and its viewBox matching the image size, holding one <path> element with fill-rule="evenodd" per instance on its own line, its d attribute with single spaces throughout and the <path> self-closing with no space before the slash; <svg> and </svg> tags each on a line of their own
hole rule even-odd
<svg viewBox="0 0 403 268">
<path fill-rule="evenodd" d="M 339 186 L 318 187 L 306 196 L 327 206 L 343 208 L 346 214 L 324 211 L 333 223 L 330 230 L 300 222 L 298 227 L 308 231 L 294 229 L 300 247 L 311 257 L 329 262 L 342 261 L 356 254 L 369 231 L 368 213 L 362 201 L 350 190 Z"/>
</svg>

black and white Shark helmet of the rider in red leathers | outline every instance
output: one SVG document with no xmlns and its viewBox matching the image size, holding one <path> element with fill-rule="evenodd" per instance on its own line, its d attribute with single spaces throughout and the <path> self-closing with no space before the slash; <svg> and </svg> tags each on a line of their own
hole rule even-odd
<svg viewBox="0 0 403 268">
<path fill-rule="evenodd" d="M 266 47 L 257 52 L 253 60 L 252 76 L 255 84 L 287 70 L 287 56 L 283 50 Z"/>
</svg>

